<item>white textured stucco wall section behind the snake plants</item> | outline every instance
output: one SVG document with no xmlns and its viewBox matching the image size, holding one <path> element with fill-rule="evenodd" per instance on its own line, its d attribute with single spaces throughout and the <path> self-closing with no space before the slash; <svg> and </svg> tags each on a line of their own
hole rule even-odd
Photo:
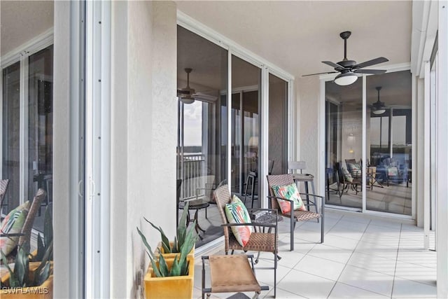
<svg viewBox="0 0 448 299">
<path fill-rule="evenodd" d="M 160 234 L 143 217 L 168 236 L 176 228 L 176 5 L 113 2 L 113 18 L 120 24 L 113 25 L 111 296 L 140 298 L 148 258 L 136 226 L 153 248 Z"/>
</svg>

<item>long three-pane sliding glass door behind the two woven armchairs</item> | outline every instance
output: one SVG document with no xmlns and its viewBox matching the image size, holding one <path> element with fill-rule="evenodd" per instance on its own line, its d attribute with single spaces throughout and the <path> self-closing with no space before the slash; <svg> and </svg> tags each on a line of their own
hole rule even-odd
<svg viewBox="0 0 448 299">
<path fill-rule="evenodd" d="M 189 202 L 200 247 L 223 235 L 218 186 L 230 186 L 247 207 L 265 207 L 265 174 L 286 173 L 292 76 L 183 25 L 177 27 L 177 216 Z"/>
</svg>

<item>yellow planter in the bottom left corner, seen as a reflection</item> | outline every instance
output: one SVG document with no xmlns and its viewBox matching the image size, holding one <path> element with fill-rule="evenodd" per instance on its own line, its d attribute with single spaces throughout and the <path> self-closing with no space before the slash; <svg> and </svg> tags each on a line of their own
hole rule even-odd
<svg viewBox="0 0 448 299">
<path fill-rule="evenodd" d="M 34 271 L 40 262 L 29 263 L 29 275 L 34 275 Z M 9 286 L 9 272 L 1 277 L 1 299 L 52 299 L 53 298 L 53 275 L 51 274 L 47 280 L 40 286 L 29 286 L 26 288 L 6 288 Z"/>
</svg>

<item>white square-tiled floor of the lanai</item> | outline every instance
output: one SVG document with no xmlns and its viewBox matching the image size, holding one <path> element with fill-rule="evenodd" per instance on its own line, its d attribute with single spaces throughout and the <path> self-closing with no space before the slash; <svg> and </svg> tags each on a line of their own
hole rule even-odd
<svg viewBox="0 0 448 299">
<path fill-rule="evenodd" d="M 423 249 L 423 230 L 407 221 L 328 210 L 325 242 L 316 243 L 319 223 L 297 223 L 294 251 L 289 251 L 287 225 L 288 221 L 279 223 L 276 298 L 436 297 L 436 253 Z M 433 243 L 432 234 L 430 248 Z M 223 254 L 223 246 L 205 254 Z M 272 254 L 262 253 L 255 270 L 272 263 Z M 273 298 L 273 270 L 256 270 L 256 277 L 269 285 L 260 298 Z M 197 257 L 194 298 L 201 298 L 201 279 Z M 211 298 L 230 295 L 214 293 Z"/>
</svg>

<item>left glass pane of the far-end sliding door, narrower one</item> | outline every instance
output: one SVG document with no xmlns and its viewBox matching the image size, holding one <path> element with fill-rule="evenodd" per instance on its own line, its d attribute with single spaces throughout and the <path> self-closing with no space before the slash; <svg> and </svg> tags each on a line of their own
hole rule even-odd
<svg viewBox="0 0 448 299">
<path fill-rule="evenodd" d="M 363 81 L 325 83 L 327 204 L 362 208 Z"/>
</svg>

